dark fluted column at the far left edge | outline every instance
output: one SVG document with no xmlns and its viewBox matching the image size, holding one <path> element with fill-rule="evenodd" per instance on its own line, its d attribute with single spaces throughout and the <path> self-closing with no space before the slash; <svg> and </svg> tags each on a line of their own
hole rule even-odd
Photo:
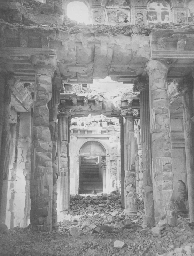
<svg viewBox="0 0 194 256">
<path fill-rule="evenodd" d="M 11 147 L 11 133 L 9 127 L 10 118 L 10 101 L 11 90 L 8 81 L 5 80 L 4 92 L 4 110 L 3 110 L 3 131 L 1 140 L 1 165 L 0 165 L 0 224 L 5 224 L 6 207 L 7 207 L 7 191 L 8 191 L 8 175 L 9 175 L 9 159 Z"/>
</svg>

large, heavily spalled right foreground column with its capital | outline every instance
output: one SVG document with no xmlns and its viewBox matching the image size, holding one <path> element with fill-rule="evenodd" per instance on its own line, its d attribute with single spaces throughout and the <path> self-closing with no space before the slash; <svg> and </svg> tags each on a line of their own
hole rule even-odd
<svg viewBox="0 0 194 256">
<path fill-rule="evenodd" d="M 146 63 L 149 75 L 150 134 L 155 225 L 176 224 L 172 172 L 172 142 L 167 94 L 166 64 L 159 60 Z"/>
</svg>

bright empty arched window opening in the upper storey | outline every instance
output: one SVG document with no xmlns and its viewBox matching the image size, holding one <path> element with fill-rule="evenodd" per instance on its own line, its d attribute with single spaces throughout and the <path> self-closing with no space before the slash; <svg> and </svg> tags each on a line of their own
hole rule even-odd
<svg viewBox="0 0 194 256">
<path fill-rule="evenodd" d="M 89 10 L 83 2 L 70 2 L 67 5 L 67 17 L 78 23 L 89 24 Z"/>
</svg>

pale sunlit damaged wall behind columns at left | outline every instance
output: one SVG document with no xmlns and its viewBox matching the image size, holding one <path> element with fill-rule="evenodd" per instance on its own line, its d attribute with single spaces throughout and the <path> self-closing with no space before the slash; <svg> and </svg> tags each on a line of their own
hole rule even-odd
<svg viewBox="0 0 194 256">
<path fill-rule="evenodd" d="M 30 211 L 31 112 L 17 114 L 12 125 L 6 225 L 26 227 Z"/>
</svg>

